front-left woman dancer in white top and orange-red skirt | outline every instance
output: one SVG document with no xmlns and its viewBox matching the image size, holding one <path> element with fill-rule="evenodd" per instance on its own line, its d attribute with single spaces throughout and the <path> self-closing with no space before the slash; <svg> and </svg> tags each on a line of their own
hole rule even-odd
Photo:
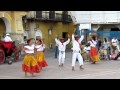
<svg viewBox="0 0 120 90">
<path fill-rule="evenodd" d="M 27 73 L 30 73 L 32 76 L 34 76 L 34 73 L 39 73 L 41 71 L 34 57 L 34 45 L 32 40 L 33 39 L 27 40 L 27 45 L 25 45 L 23 49 L 26 53 L 22 64 L 22 70 L 25 72 L 25 76 L 27 76 Z"/>
</svg>

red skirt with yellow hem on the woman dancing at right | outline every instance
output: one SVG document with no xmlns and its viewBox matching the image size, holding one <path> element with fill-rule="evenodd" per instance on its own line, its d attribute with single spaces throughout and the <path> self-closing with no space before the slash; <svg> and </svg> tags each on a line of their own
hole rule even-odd
<svg viewBox="0 0 120 90">
<path fill-rule="evenodd" d="M 90 58 L 91 58 L 92 62 L 99 62 L 100 61 L 100 58 L 98 56 L 98 50 L 95 47 L 91 48 L 89 54 L 90 54 Z"/>
</svg>

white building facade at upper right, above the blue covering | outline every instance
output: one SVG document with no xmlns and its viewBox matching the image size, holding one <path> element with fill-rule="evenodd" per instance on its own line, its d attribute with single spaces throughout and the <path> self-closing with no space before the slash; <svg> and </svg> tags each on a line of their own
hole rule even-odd
<svg viewBox="0 0 120 90">
<path fill-rule="evenodd" d="M 120 11 L 70 11 L 79 30 L 119 31 Z"/>
</svg>

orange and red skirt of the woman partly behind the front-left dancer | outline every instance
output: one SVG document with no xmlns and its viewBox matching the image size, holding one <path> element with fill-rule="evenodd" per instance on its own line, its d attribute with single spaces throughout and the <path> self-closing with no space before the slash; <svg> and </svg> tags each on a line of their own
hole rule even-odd
<svg viewBox="0 0 120 90">
<path fill-rule="evenodd" d="M 46 67 L 48 66 L 46 60 L 45 60 L 45 55 L 43 52 L 37 52 L 36 53 L 36 60 L 39 64 L 40 67 Z"/>
</svg>

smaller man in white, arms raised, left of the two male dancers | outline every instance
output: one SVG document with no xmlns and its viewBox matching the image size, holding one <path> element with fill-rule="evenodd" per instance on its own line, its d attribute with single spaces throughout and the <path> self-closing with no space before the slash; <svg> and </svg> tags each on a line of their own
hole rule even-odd
<svg viewBox="0 0 120 90">
<path fill-rule="evenodd" d="M 59 49 L 58 61 L 59 61 L 59 67 L 61 67 L 65 62 L 65 50 L 66 50 L 66 45 L 69 44 L 70 42 L 70 36 L 68 34 L 68 40 L 64 42 L 63 38 L 60 39 L 60 41 L 57 40 L 57 35 L 56 35 L 55 42 L 58 44 L 58 49 Z"/>
</svg>

